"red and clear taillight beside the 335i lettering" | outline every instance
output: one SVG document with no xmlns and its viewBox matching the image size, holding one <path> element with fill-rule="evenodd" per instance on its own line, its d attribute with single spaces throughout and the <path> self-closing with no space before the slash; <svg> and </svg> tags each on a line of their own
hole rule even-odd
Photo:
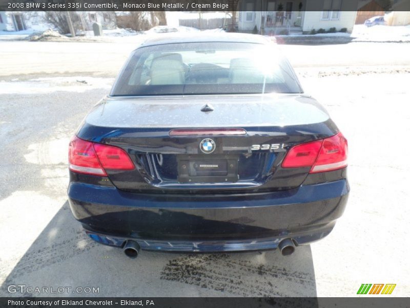
<svg viewBox="0 0 410 308">
<path fill-rule="evenodd" d="M 292 147 L 283 168 L 311 167 L 310 173 L 332 171 L 347 166 L 347 141 L 339 132 L 335 136 Z"/>
</svg>

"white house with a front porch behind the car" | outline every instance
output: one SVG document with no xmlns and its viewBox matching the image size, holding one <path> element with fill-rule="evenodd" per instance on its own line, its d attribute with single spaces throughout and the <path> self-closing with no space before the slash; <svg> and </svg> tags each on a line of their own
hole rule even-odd
<svg viewBox="0 0 410 308">
<path fill-rule="evenodd" d="M 240 0 L 238 31 L 263 34 L 310 33 L 346 28 L 352 32 L 358 0 Z"/>
</svg>

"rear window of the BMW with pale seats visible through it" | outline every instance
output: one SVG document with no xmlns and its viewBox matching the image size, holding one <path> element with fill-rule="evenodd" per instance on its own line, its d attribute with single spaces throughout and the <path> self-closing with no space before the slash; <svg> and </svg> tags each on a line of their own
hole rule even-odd
<svg viewBox="0 0 410 308">
<path fill-rule="evenodd" d="M 300 93 L 274 46 L 183 43 L 134 51 L 111 95 Z"/>
</svg>

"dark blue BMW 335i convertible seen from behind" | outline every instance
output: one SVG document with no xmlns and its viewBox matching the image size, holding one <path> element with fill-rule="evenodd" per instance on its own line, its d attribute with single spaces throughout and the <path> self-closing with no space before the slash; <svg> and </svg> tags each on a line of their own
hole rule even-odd
<svg viewBox="0 0 410 308">
<path fill-rule="evenodd" d="M 346 159 L 346 139 L 271 41 L 157 38 L 71 140 L 68 197 L 93 240 L 129 257 L 289 255 L 342 215 Z"/>
</svg>

